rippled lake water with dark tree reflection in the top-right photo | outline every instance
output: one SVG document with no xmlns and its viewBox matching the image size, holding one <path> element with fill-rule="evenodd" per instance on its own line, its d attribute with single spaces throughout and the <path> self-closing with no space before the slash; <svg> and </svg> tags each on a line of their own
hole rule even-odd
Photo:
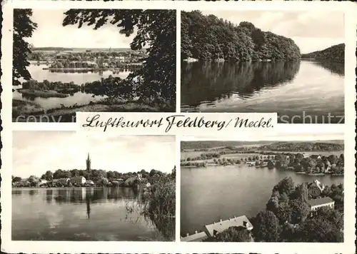
<svg viewBox="0 0 357 254">
<path fill-rule="evenodd" d="M 328 113 L 344 116 L 343 81 L 343 64 L 335 63 L 182 63 L 181 111 L 277 112 L 280 123 L 303 123 L 304 116 L 327 123 Z"/>
</svg>

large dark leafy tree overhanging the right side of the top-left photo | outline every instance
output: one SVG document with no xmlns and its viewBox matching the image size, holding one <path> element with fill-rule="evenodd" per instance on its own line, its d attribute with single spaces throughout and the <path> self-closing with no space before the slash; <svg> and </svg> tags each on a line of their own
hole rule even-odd
<svg viewBox="0 0 357 254">
<path fill-rule="evenodd" d="M 141 9 L 71 9 L 65 12 L 63 25 L 116 25 L 120 34 L 137 33 L 130 46 L 133 50 L 146 49 L 148 56 L 141 69 L 128 79 L 138 86 L 144 101 L 169 103 L 176 101 L 176 11 Z M 111 95 L 114 96 L 114 95 Z"/>
</svg>

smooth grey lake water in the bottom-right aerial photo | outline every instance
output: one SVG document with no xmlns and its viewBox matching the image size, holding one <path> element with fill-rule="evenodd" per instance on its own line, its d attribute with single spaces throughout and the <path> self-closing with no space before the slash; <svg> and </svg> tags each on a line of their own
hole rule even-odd
<svg viewBox="0 0 357 254">
<path fill-rule="evenodd" d="M 343 183 L 343 176 L 307 176 L 276 168 L 181 168 L 181 235 L 220 219 L 256 216 L 265 210 L 273 187 L 286 176 L 295 184 L 316 179 L 326 186 Z"/>
</svg>

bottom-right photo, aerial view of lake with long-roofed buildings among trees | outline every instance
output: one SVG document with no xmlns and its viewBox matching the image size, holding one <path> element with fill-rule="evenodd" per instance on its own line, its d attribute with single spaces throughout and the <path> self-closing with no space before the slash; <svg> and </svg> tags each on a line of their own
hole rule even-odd
<svg viewBox="0 0 357 254">
<path fill-rule="evenodd" d="M 181 141 L 182 242 L 343 243 L 344 142 Z"/>
</svg>

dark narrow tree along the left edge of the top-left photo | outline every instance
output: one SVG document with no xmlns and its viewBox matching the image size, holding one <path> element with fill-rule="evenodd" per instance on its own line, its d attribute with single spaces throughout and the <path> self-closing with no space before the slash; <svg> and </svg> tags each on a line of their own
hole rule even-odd
<svg viewBox="0 0 357 254">
<path fill-rule="evenodd" d="M 31 74 L 26 68 L 30 65 L 29 61 L 27 61 L 27 56 L 31 53 L 31 45 L 25 41 L 26 38 L 32 36 L 32 33 L 37 28 L 37 24 L 31 21 L 31 16 L 31 9 L 14 9 L 13 86 L 21 84 L 19 78 L 31 79 Z"/>
</svg>

